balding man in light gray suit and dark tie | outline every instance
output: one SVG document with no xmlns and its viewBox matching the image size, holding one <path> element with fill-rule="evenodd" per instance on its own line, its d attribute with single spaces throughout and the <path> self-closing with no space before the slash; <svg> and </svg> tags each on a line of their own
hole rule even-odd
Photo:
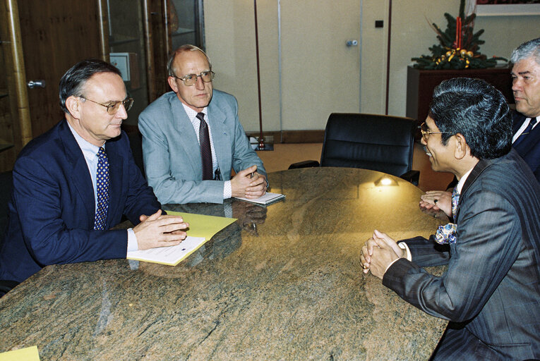
<svg viewBox="0 0 540 361">
<path fill-rule="evenodd" d="M 167 63 L 172 92 L 139 116 L 148 185 L 166 203 L 222 203 L 230 197 L 258 198 L 268 182 L 238 120 L 238 103 L 213 90 L 214 73 L 205 52 L 176 49 Z M 231 178 L 234 170 L 236 175 Z"/>
</svg>

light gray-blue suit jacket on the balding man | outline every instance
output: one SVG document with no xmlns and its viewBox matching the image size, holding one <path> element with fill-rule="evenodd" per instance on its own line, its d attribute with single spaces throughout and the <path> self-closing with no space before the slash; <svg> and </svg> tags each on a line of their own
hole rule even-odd
<svg viewBox="0 0 540 361">
<path fill-rule="evenodd" d="M 238 120 L 238 103 L 231 94 L 214 90 L 208 123 L 222 181 L 202 181 L 197 135 L 176 93 L 163 94 L 140 114 L 146 178 L 162 204 L 222 203 L 224 181 L 229 181 L 232 169 L 239 172 L 256 164 L 258 173 L 266 175 Z"/>
</svg>

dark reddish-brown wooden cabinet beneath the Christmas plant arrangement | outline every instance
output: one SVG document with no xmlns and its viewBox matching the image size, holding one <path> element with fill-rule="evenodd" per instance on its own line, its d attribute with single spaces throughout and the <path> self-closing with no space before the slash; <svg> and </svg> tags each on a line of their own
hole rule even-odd
<svg viewBox="0 0 540 361">
<path fill-rule="evenodd" d="M 433 89 L 443 80 L 452 78 L 480 78 L 486 80 L 503 93 L 510 104 L 514 104 L 510 68 L 464 69 L 425 71 L 407 68 L 407 116 L 422 123 L 428 116 Z"/>
</svg>

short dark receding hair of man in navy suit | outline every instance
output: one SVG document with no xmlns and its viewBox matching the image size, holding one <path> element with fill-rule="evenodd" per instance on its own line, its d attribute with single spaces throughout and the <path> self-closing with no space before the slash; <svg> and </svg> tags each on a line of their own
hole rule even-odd
<svg viewBox="0 0 540 361">
<path fill-rule="evenodd" d="M 66 99 L 75 95 L 78 97 L 82 95 L 83 87 L 88 79 L 92 75 L 97 73 L 115 73 L 120 76 L 122 74 L 116 68 L 107 61 L 102 61 L 101 59 L 85 59 L 79 61 L 74 66 L 72 66 L 64 76 L 60 79 L 60 107 L 64 113 L 69 113 L 66 108 Z"/>
</svg>

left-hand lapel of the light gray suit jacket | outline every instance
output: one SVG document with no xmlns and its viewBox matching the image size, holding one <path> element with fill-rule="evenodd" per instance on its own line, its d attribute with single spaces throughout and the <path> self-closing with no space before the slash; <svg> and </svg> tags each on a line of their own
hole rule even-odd
<svg viewBox="0 0 540 361">
<path fill-rule="evenodd" d="M 172 114 L 174 116 L 173 127 L 179 133 L 179 140 L 174 145 L 169 145 L 169 150 L 175 147 L 184 149 L 182 154 L 187 157 L 187 163 L 191 165 L 191 171 L 198 175 L 198 178 L 203 179 L 202 161 L 200 158 L 199 141 L 193 124 L 188 118 L 184 106 L 178 99 L 174 97 L 171 102 Z M 188 171 L 188 170 L 186 170 Z"/>
</svg>

